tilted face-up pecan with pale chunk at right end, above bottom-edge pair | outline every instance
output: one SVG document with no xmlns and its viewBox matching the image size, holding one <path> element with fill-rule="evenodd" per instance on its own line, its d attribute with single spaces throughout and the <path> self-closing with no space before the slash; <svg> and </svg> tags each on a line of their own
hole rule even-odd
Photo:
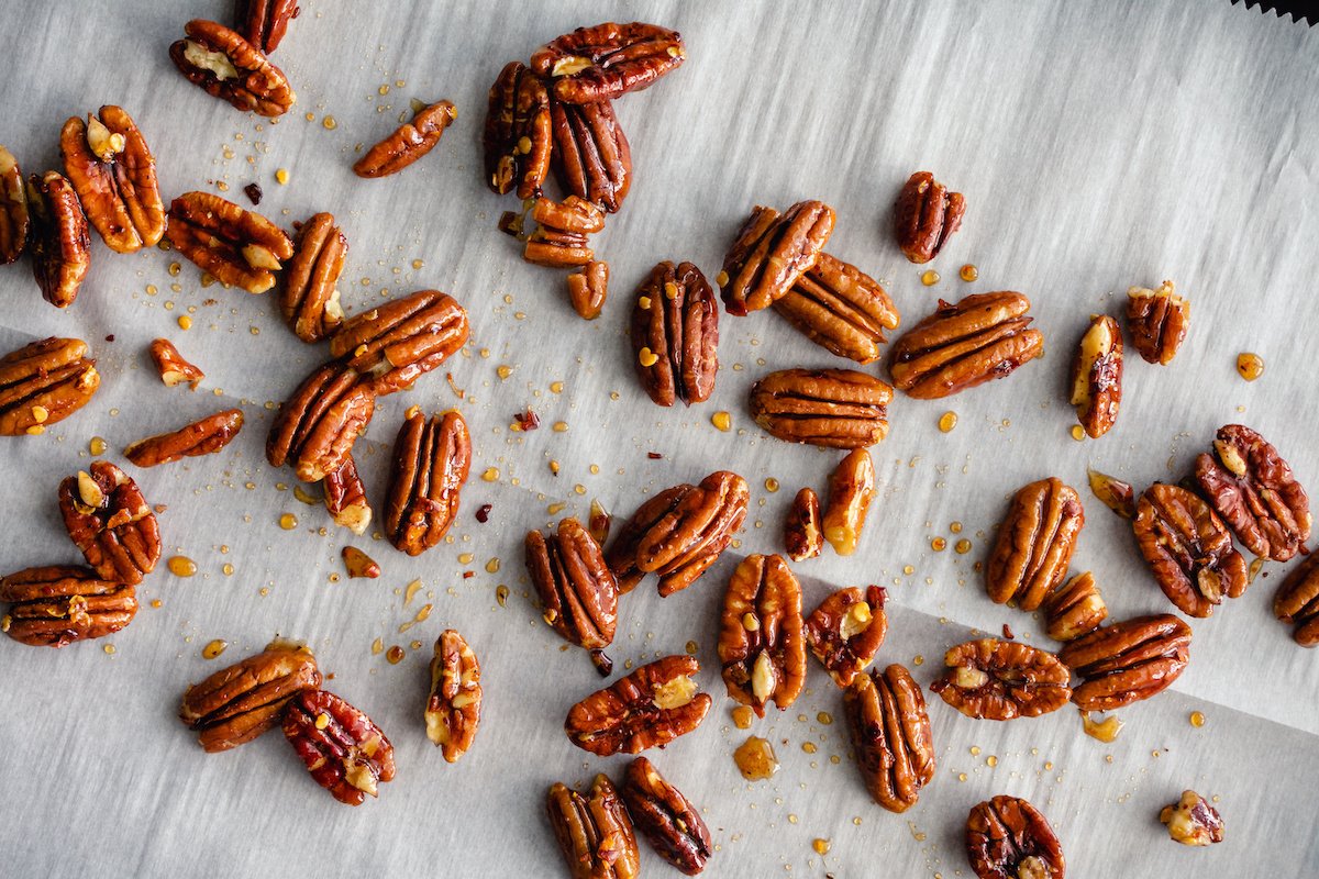
<svg viewBox="0 0 1319 879">
<path fill-rule="evenodd" d="M 609 756 L 663 747 L 700 726 L 708 693 L 696 692 L 695 656 L 665 656 L 646 663 L 568 710 L 563 731 L 578 747 Z"/>
</svg>

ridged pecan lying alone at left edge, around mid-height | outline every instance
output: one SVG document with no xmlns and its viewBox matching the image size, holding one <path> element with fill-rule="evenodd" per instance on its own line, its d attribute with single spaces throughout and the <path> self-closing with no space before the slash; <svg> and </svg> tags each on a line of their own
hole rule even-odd
<svg viewBox="0 0 1319 879">
<path fill-rule="evenodd" d="M 0 357 L 0 436 L 42 434 L 100 387 L 95 360 L 79 339 L 42 339 Z"/>
</svg>

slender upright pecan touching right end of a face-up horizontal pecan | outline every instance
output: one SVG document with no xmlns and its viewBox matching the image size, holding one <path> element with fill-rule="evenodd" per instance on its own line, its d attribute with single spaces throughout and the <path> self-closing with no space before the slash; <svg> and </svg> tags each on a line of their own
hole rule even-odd
<svg viewBox="0 0 1319 879">
<path fill-rule="evenodd" d="M 332 336 L 343 326 L 339 275 L 348 239 L 330 213 L 315 213 L 293 239 L 293 260 L 280 283 L 280 310 L 289 329 L 306 343 Z"/>
</svg>

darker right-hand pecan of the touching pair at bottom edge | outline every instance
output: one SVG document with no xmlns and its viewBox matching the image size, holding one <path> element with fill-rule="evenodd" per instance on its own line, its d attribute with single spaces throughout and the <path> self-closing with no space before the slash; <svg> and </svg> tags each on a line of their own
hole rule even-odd
<svg viewBox="0 0 1319 879">
<path fill-rule="evenodd" d="M 706 822 L 650 760 L 638 756 L 628 764 L 620 793 L 637 829 L 661 858 L 689 876 L 706 868 L 715 850 Z"/>
</svg>

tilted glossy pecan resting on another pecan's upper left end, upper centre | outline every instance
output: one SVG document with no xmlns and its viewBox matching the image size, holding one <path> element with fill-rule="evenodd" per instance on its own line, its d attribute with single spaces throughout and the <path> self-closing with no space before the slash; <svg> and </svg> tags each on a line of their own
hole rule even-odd
<svg viewBox="0 0 1319 879">
<path fill-rule="evenodd" d="M 774 304 L 819 260 L 834 232 L 834 208 L 798 202 L 780 215 L 756 207 L 715 278 L 728 314 L 744 316 Z"/>
</svg>

